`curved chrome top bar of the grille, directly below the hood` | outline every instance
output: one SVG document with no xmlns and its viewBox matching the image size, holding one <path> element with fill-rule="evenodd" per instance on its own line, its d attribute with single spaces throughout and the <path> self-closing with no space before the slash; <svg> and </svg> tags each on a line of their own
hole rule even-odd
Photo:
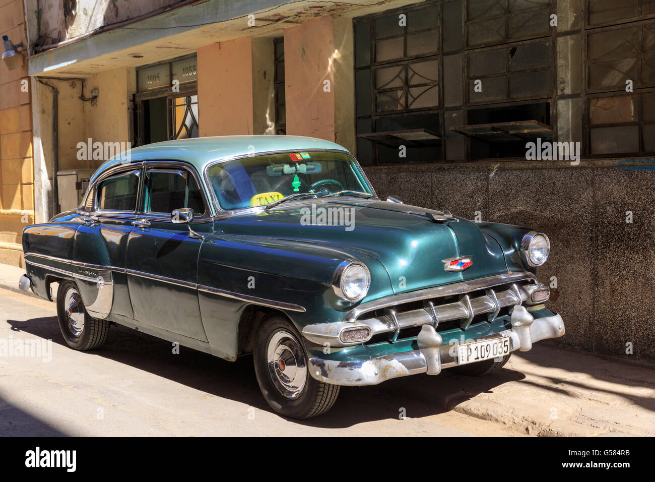
<svg viewBox="0 0 655 482">
<path fill-rule="evenodd" d="M 395 306 L 411 301 L 429 300 L 430 298 L 440 298 L 441 296 L 451 296 L 453 294 L 466 294 L 479 289 L 491 288 L 496 285 L 505 285 L 515 281 L 533 280 L 536 283 L 536 276 L 529 271 L 518 271 L 516 273 L 502 273 L 500 275 L 487 276 L 483 278 L 472 279 L 470 281 L 460 281 L 450 285 L 443 285 L 434 288 L 427 288 L 409 293 L 396 294 L 387 296 L 379 300 L 373 300 L 362 303 L 346 313 L 344 321 L 354 323 L 356 319 L 369 311 L 380 310 L 389 306 Z"/>
</svg>

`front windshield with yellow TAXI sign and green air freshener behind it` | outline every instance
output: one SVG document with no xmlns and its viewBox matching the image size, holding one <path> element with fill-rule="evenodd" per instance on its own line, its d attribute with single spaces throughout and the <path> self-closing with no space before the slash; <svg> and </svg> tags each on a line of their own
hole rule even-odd
<svg viewBox="0 0 655 482">
<path fill-rule="evenodd" d="M 358 191 L 373 195 L 359 165 L 345 153 L 294 152 L 244 157 L 208 171 L 221 209 L 265 206 L 292 194 Z M 343 195 L 348 195 L 348 192 Z"/>
</svg>

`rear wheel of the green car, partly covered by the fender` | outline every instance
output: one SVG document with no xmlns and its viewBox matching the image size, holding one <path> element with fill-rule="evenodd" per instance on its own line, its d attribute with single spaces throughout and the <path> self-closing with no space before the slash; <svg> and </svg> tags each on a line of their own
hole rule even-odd
<svg viewBox="0 0 655 482">
<path fill-rule="evenodd" d="M 62 281 L 57 290 L 57 317 L 66 344 L 74 350 L 95 350 L 107 338 L 109 321 L 91 317 L 73 281 Z"/>
</svg>

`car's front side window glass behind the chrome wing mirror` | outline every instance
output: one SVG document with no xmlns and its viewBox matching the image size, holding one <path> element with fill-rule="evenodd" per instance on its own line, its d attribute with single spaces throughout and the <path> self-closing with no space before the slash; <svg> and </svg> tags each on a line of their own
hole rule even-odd
<svg viewBox="0 0 655 482">
<path fill-rule="evenodd" d="M 147 212 L 165 212 L 188 207 L 204 214 L 202 194 L 195 178 L 187 171 L 151 169 L 147 172 Z"/>
</svg>

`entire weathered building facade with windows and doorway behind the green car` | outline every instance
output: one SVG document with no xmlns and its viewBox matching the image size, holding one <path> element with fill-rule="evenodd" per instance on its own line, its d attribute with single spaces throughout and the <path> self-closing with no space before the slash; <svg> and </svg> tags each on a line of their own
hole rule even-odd
<svg viewBox="0 0 655 482">
<path fill-rule="evenodd" d="M 545 231 L 557 343 L 655 360 L 650 2 L 22 5 L 1 7 L 20 10 L 0 25 L 29 46 L 30 81 L 20 93 L 28 72 L 0 66 L 16 119 L 0 119 L 5 262 L 21 262 L 24 211 L 58 211 L 54 173 L 115 144 L 316 136 L 355 153 L 381 196 Z"/>
</svg>

